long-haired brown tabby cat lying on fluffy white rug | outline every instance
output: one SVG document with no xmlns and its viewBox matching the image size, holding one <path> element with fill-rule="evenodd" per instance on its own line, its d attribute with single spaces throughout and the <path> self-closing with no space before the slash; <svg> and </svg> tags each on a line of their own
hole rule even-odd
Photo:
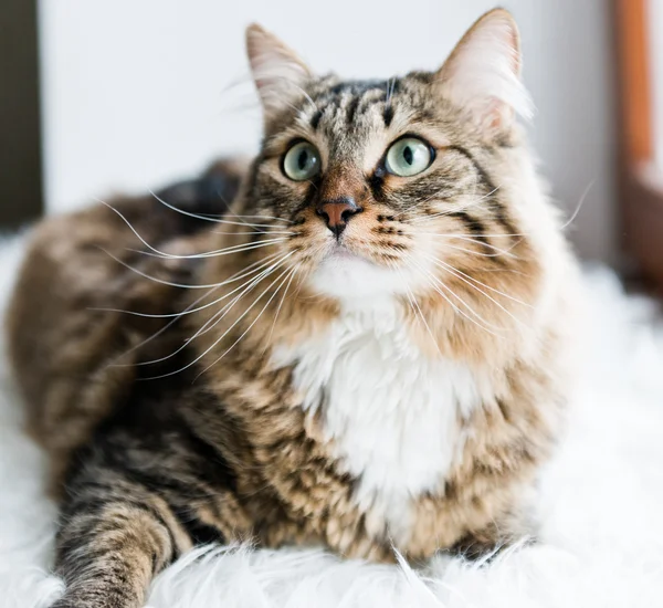
<svg viewBox="0 0 663 608">
<path fill-rule="evenodd" d="M 246 41 L 249 166 L 49 219 L 27 254 L 8 331 L 57 608 L 137 608 L 209 542 L 390 562 L 536 535 L 577 263 L 516 118 L 514 19 L 388 81 Z"/>
</svg>

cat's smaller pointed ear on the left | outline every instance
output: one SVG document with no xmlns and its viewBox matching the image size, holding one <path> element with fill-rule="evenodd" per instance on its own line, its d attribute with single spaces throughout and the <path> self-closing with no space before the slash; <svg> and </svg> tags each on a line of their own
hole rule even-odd
<svg viewBox="0 0 663 608">
<path fill-rule="evenodd" d="M 246 29 L 246 53 L 269 120 L 302 95 L 302 86 L 312 73 L 293 50 L 256 23 Z"/>
</svg>

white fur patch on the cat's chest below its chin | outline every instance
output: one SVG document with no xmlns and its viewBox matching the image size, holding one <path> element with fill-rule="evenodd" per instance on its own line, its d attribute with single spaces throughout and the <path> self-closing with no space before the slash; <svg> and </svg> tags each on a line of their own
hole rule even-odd
<svg viewBox="0 0 663 608">
<path fill-rule="evenodd" d="M 274 356 L 294 365 L 303 407 L 322 415 L 334 455 L 358 480 L 360 507 L 407 535 L 411 499 L 441 489 L 459 418 L 480 402 L 471 369 L 424 355 L 391 302 L 347 310 L 325 334 Z"/>
</svg>

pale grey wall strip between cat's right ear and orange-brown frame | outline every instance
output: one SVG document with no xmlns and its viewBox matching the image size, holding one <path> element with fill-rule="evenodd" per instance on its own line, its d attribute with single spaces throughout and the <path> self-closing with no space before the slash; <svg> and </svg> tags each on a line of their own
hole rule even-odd
<svg viewBox="0 0 663 608">
<path fill-rule="evenodd" d="M 525 82 L 538 107 L 532 138 L 544 172 L 569 212 L 587 192 L 570 234 L 585 256 L 614 262 L 619 227 L 611 2 L 515 4 L 523 15 Z"/>
</svg>

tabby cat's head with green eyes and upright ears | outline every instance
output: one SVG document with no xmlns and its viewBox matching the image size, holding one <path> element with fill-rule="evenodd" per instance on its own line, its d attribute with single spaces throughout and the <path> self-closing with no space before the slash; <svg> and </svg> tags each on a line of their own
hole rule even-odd
<svg viewBox="0 0 663 608">
<path fill-rule="evenodd" d="M 428 294 L 461 312 L 470 287 L 532 291 L 556 228 L 516 123 L 530 102 L 508 12 L 436 72 L 386 81 L 316 76 L 257 25 L 248 50 L 264 139 L 242 213 L 267 218 L 255 240 L 281 268 L 332 297 Z"/>
</svg>

